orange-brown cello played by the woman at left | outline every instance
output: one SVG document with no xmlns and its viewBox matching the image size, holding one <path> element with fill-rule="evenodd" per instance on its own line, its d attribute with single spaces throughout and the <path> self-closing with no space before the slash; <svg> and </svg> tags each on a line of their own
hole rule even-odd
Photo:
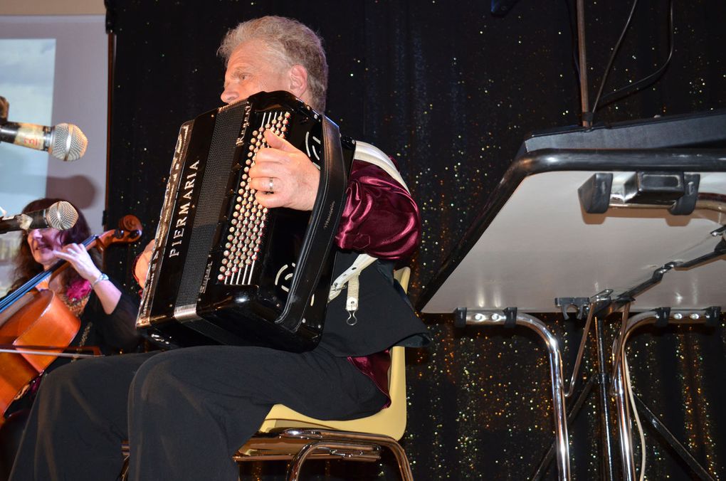
<svg viewBox="0 0 726 481">
<path fill-rule="evenodd" d="M 96 247 L 103 252 L 111 244 L 135 242 L 141 235 L 139 219 L 126 215 L 118 229 L 91 236 L 82 245 L 86 250 Z M 93 354 L 66 352 L 81 321 L 52 290 L 36 289 L 66 267 L 68 262 L 60 260 L 0 300 L 0 425 L 12 401 L 56 358 L 100 355 L 97 349 Z"/>
</svg>

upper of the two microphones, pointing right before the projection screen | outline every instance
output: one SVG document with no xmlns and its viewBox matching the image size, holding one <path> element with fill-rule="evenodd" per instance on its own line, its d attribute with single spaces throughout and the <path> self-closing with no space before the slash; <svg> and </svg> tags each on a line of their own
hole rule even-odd
<svg viewBox="0 0 726 481">
<path fill-rule="evenodd" d="M 34 123 L 4 122 L 0 124 L 0 141 L 46 150 L 60 160 L 78 160 L 89 144 L 78 126 L 59 123 L 57 126 L 36 126 Z"/>
</svg>

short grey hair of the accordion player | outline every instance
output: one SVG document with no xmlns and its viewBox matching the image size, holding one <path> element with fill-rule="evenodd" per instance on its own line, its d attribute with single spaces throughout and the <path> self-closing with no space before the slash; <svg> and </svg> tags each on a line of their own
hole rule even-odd
<svg viewBox="0 0 726 481">
<path fill-rule="evenodd" d="M 297 20 L 285 17 L 260 17 L 240 23 L 224 36 L 217 54 L 229 62 L 234 49 L 242 42 L 260 40 L 279 54 L 285 67 L 302 65 L 308 72 L 311 106 L 323 112 L 327 92 L 327 60 L 322 38 Z"/>
</svg>

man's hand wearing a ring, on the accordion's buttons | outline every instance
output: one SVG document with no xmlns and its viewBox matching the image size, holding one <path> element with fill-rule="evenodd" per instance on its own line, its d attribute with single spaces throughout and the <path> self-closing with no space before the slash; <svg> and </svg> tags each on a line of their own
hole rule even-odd
<svg viewBox="0 0 726 481">
<path fill-rule="evenodd" d="M 257 190 L 257 202 L 264 207 L 312 210 L 320 171 L 290 142 L 269 130 L 264 135 L 269 147 L 257 152 L 250 169 L 250 187 Z"/>
</svg>

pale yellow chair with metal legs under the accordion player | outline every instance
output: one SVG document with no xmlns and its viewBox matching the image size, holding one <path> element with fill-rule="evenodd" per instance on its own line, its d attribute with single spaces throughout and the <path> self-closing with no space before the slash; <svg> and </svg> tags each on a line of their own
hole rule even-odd
<svg viewBox="0 0 726 481">
<path fill-rule="evenodd" d="M 396 271 L 404 290 L 408 286 L 409 268 Z M 237 453 L 234 461 L 290 460 L 289 481 L 298 480 L 307 459 L 345 459 L 378 461 L 383 448 L 396 457 L 403 480 L 412 481 L 411 466 L 401 445 L 406 428 L 405 348 L 391 348 L 388 391 L 391 405 L 372 416 L 348 421 L 322 421 L 304 416 L 287 406 L 276 404 L 252 437 Z"/>
</svg>

